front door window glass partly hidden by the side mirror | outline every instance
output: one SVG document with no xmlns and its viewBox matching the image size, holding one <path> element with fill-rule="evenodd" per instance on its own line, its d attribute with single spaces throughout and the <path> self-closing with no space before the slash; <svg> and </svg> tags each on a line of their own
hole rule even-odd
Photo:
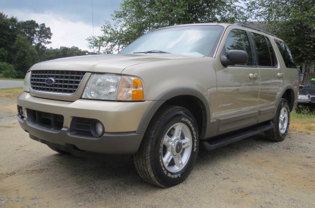
<svg viewBox="0 0 315 208">
<path fill-rule="evenodd" d="M 232 29 L 227 36 L 225 41 L 225 51 L 229 50 L 243 50 L 248 53 L 248 63 L 240 65 L 252 66 L 252 51 L 250 41 L 248 40 L 247 34 L 244 30 Z"/>
</svg>

